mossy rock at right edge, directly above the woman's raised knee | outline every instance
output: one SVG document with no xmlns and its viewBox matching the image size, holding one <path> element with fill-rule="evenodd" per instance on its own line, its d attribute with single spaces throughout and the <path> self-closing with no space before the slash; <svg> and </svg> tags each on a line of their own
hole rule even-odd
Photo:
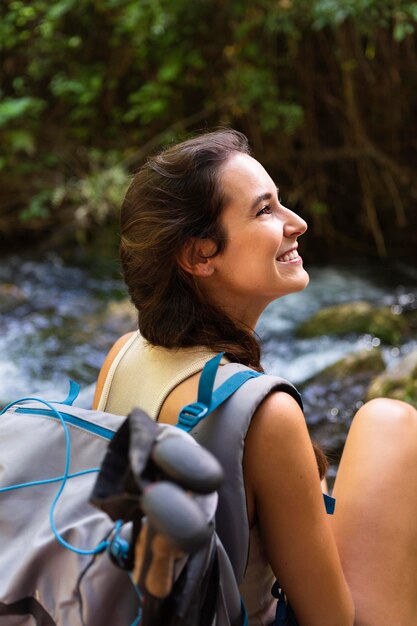
<svg viewBox="0 0 417 626">
<path fill-rule="evenodd" d="M 417 348 L 372 381 L 366 399 L 381 396 L 405 400 L 417 408 Z"/>
</svg>

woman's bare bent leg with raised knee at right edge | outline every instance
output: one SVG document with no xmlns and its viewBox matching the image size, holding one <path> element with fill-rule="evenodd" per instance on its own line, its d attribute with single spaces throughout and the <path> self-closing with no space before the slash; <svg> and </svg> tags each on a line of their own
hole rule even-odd
<svg viewBox="0 0 417 626">
<path fill-rule="evenodd" d="M 332 524 L 356 626 L 417 624 L 417 411 L 378 399 L 355 416 Z"/>
</svg>

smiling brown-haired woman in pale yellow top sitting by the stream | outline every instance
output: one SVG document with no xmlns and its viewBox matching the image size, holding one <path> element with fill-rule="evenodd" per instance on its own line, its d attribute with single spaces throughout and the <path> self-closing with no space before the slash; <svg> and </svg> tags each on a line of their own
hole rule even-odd
<svg viewBox="0 0 417 626">
<path fill-rule="evenodd" d="M 298 254 L 306 228 L 240 133 L 207 133 L 150 159 L 121 214 L 121 260 L 141 335 L 110 351 L 96 406 L 127 413 L 138 404 L 175 424 L 214 354 L 260 370 L 253 330 L 267 304 L 307 285 Z M 265 555 L 300 626 L 416 624 L 416 411 L 393 400 L 359 410 L 333 518 L 317 464 L 323 475 L 299 405 L 271 393 L 252 418 L 243 459 L 256 558 Z M 250 623 L 270 624 L 270 580 L 250 584 Z"/>
</svg>

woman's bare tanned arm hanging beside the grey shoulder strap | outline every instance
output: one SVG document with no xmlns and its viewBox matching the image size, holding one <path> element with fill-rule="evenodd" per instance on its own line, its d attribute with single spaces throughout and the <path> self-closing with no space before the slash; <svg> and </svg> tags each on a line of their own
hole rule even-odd
<svg viewBox="0 0 417 626">
<path fill-rule="evenodd" d="M 300 626 L 352 626 L 354 607 L 325 512 L 304 415 L 284 392 L 256 411 L 245 442 L 249 519 Z"/>
</svg>

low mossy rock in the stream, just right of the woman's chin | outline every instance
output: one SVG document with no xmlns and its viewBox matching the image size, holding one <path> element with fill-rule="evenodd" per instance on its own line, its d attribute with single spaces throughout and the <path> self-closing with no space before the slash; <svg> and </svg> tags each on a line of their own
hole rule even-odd
<svg viewBox="0 0 417 626">
<path fill-rule="evenodd" d="M 393 313 L 389 307 L 376 307 L 359 300 L 321 309 L 300 324 L 298 337 L 319 335 L 345 335 L 369 333 L 388 344 L 396 344 L 407 331 L 403 317 Z"/>
</svg>

